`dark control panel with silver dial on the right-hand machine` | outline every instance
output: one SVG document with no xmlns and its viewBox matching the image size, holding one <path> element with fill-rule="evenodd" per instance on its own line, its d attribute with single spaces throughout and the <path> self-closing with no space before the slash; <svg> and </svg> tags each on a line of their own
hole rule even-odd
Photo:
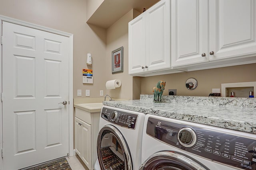
<svg viewBox="0 0 256 170">
<path fill-rule="evenodd" d="M 148 118 L 146 133 L 203 158 L 256 170 L 256 135 L 249 139 L 153 117 Z"/>
</svg>

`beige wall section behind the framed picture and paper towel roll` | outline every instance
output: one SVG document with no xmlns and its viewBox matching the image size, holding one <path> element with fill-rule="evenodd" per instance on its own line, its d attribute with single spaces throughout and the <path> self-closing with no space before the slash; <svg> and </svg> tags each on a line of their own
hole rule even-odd
<svg viewBox="0 0 256 170">
<path fill-rule="evenodd" d="M 120 88 L 106 90 L 113 98 L 132 99 L 132 76 L 128 75 L 128 22 L 133 19 L 133 10 L 128 12 L 107 29 L 106 80 L 120 79 Z M 124 47 L 124 72 L 112 74 L 112 51 Z M 103 70 L 102 70 L 103 71 Z"/>
</svg>

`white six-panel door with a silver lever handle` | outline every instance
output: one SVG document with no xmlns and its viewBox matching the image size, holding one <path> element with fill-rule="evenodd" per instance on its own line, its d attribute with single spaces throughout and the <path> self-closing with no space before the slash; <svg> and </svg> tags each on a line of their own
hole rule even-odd
<svg viewBox="0 0 256 170">
<path fill-rule="evenodd" d="M 68 153 L 68 37 L 2 24 L 3 164 L 15 170 Z"/>
</svg>

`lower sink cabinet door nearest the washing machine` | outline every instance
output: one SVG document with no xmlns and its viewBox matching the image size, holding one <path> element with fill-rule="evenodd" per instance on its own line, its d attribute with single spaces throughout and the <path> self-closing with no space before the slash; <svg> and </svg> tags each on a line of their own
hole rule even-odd
<svg viewBox="0 0 256 170">
<path fill-rule="evenodd" d="M 91 170 L 92 168 L 92 137 L 91 125 L 82 121 L 82 160 L 86 166 Z"/>
</svg>

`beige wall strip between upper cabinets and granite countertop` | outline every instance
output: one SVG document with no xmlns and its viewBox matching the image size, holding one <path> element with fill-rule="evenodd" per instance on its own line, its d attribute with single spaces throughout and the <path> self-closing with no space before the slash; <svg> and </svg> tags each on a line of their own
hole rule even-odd
<svg viewBox="0 0 256 170">
<path fill-rule="evenodd" d="M 186 89 L 185 84 L 188 78 L 195 78 L 198 81 L 196 89 Z M 166 81 L 163 95 L 168 95 L 168 89 L 177 89 L 177 95 L 180 96 L 208 96 L 212 88 L 221 88 L 222 83 L 255 82 L 256 64 L 143 77 L 141 78 L 141 93 L 153 94 L 152 88 L 158 80 Z"/>
</svg>

